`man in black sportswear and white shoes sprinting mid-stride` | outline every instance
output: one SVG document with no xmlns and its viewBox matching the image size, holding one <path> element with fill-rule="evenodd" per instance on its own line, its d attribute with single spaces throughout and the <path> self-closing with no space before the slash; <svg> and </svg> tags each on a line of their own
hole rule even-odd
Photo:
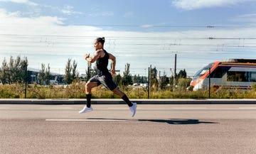
<svg viewBox="0 0 256 154">
<path fill-rule="evenodd" d="M 105 38 L 96 38 L 95 55 L 90 57 L 90 54 L 85 54 L 85 60 L 87 60 L 87 62 L 91 62 L 91 63 L 96 62 L 97 75 L 89 79 L 89 81 L 85 84 L 87 104 L 81 111 L 79 111 L 79 114 L 93 111 L 91 106 L 92 88 L 97 87 L 100 84 L 103 84 L 103 86 L 105 86 L 107 89 L 110 89 L 114 94 L 117 94 L 120 98 L 122 98 L 127 103 L 131 111 L 131 115 L 133 117 L 136 114 L 137 104 L 129 101 L 129 98 L 127 97 L 127 95 L 121 92 L 118 89 L 117 84 L 113 82 L 112 75 L 115 75 L 116 59 L 114 55 L 107 53 L 107 51 L 104 49 L 104 43 L 105 43 Z M 109 59 L 112 61 L 111 72 L 107 70 Z"/>
</svg>

